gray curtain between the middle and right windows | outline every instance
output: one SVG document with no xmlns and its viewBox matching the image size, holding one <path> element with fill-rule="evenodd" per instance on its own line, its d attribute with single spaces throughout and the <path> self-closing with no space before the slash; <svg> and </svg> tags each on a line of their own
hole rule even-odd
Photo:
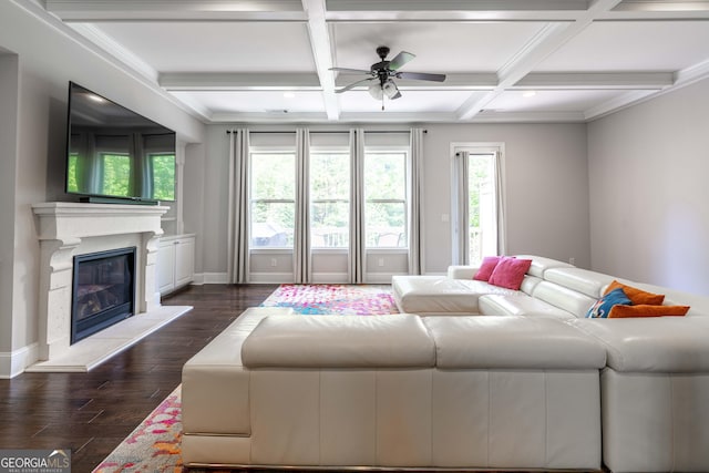
<svg viewBox="0 0 709 473">
<path fill-rule="evenodd" d="M 349 281 L 364 282 L 364 130 L 350 130 Z"/>
</svg>

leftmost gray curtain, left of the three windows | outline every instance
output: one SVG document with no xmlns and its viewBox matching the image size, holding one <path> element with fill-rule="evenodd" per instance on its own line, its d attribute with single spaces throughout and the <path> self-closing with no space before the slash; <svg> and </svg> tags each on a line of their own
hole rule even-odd
<svg viewBox="0 0 709 473">
<path fill-rule="evenodd" d="M 227 217 L 227 280 L 248 282 L 248 128 L 229 135 L 229 203 Z"/>
</svg>

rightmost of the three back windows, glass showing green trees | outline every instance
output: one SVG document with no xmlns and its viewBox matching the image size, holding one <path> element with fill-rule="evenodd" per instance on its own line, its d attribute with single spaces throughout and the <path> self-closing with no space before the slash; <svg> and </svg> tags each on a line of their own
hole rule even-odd
<svg viewBox="0 0 709 473">
<path fill-rule="evenodd" d="M 407 151 L 364 153 L 364 233 L 368 248 L 405 248 Z"/>
</svg>

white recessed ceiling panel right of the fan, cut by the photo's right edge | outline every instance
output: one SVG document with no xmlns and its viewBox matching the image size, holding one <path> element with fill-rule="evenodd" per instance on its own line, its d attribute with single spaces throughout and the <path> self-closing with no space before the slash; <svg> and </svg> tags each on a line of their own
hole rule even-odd
<svg viewBox="0 0 709 473">
<path fill-rule="evenodd" d="M 709 60 L 709 22 L 596 22 L 536 71 L 678 71 Z"/>
</svg>

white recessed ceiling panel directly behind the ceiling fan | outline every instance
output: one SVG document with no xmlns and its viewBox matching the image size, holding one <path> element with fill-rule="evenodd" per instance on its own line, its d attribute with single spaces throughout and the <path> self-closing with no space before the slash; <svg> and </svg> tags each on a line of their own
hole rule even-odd
<svg viewBox="0 0 709 473">
<path fill-rule="evenodd" d="M 377 47 L 417 55 L 402 71 L 496 72 L 545 23 L 336 23 L 332 25 L 335 65 L 369 69 L 379 62 Z"/>
</svg>

